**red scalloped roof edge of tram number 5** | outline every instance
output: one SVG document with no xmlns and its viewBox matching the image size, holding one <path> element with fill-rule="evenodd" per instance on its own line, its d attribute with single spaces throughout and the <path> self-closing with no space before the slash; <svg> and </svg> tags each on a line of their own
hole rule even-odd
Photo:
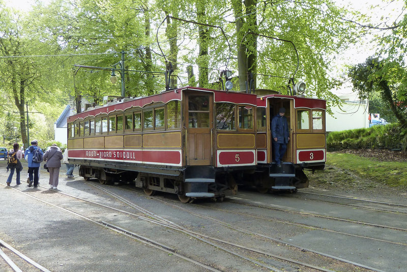
<svg viewBox="0 0 407 272">
<path fill-rule="evenodd" d="M 240 92 L 232 92 L 232 91 L 220 91 L 220 90 L 213 90 L 213 89 L 205 89 L 199 87 L 183 87 L 178 89 L 173 89 L 169 91 L 164 91 L 159 94 L 154 94 L 150 96 L 144 97 L 136 97 L 136 98 L 124 98 L 121 101 L 117 102 L 110 102 L 103 106 L 97 106 L 92 108 L 91 110 L 87 110 L 75 115 L 68 117 L 68 122 L 72 122 L 77 119 L 84 119 L 89 116 L 97 116 L 99 114 L 109 114 L 114 111 L 125 111 L 131 107 L 144 107 L 151 103 L 168 103 L 172 100 L 182 100 L 182 93 L 183 92 L 203 92 L 203 93 L 213 93 L 215 102 L 229 102 L 235 104 L 250 104 L 255 106 L 256 105 L 256 98 L 255 94 L 247 94 L 247 93 L 240 93 Z"/>
</svg>

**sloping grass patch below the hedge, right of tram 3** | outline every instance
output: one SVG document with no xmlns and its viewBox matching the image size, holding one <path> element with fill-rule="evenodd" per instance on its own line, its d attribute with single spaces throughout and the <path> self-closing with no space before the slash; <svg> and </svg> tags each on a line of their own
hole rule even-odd
<svg viewBox="0 0 407 272">
<path fill-rule="evenodd" d="M 407 175 L 405 174 L 407 162 L 405 161 L 379 161 L 354 154 L 328 153 L 326 168 L 343 170 L 341 180 L 352 181 L 356 178 L 388 186 L 407 186 Z M 352 177 L 350 174 L 354 176 Z"/>
</svg>

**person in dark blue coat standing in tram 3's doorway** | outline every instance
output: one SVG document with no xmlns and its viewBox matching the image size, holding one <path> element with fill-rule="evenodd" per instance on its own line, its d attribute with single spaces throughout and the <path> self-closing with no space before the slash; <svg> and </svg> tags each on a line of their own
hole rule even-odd
<svg viewBox="0 0 407 272">
<path fill-rule="evenodd" d="M 274 149 L 274 159 L 278 166 L 281 166 L 282 158 L 287 150 L 289 141 L 289 128 L 287 118 L 285 115 L 285 108 L 281 107 L 278 114 L 273 117 L 271 121 L 271 137 Z"/>
</svg>

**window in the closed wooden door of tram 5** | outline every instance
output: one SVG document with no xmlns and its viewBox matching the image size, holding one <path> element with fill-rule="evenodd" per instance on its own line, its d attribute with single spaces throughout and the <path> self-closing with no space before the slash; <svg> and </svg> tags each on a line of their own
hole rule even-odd
<svg viewBox="0 0 407 272">
<path fill-rule="evenodd" d="M 209 127 L 209 96 L 190 95 L 188 101 L 188 126 Z"/>
</svg>

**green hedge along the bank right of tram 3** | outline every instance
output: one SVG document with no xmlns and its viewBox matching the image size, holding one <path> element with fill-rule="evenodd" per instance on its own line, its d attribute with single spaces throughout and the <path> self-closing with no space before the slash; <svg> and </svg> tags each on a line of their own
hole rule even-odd
<svg viewBox="0 0 407 272">
<path fill-rule="evenodd" d="M 328 148 L 388 148 L 401 144 L 403 151 L 407 146 L 407 129 L 398 123 L 375 125 L 369 128 L 358 128 L 333 131 L 327 136 Z"/>
</svg>

